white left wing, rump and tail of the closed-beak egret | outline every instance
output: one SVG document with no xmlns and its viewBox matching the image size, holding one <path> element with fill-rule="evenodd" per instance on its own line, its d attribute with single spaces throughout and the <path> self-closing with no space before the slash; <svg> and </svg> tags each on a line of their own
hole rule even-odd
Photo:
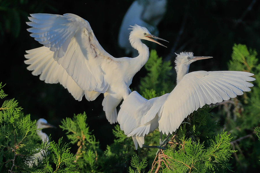
<svg viewBox="0 0 260 173">
<path fill-rule="evenodd" d="M 147 100 L 133 91 L 123 101 L 117 120 L 125 134 L 132 136 L 136 149 L 138 144 L 142 148 L 144 136 L 159 126 L 157 113 L 168 95 Z"/>
</svg>

